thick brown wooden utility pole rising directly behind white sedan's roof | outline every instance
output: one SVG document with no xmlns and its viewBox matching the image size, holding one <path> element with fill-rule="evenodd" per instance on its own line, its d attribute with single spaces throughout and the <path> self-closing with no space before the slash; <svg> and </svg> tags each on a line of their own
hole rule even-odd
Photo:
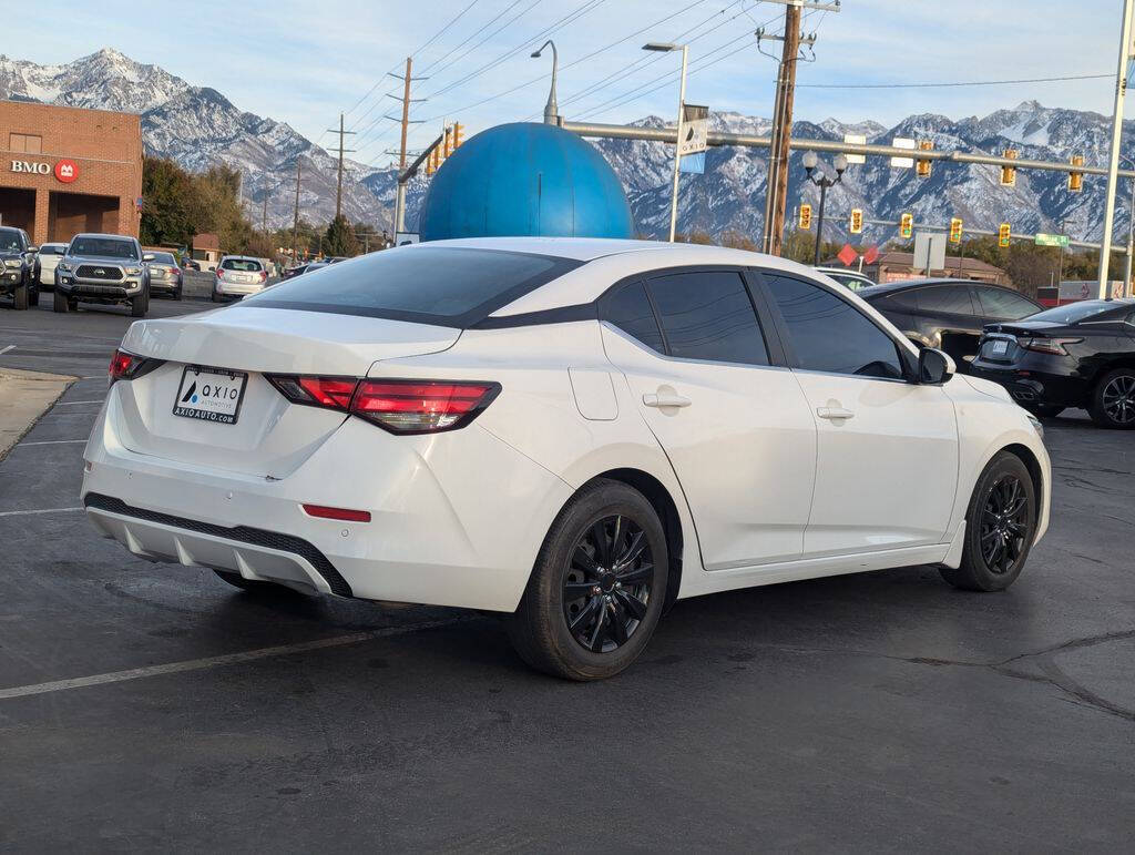
<svg viewBox="0 0 1135 855">
<path fill-rule="evenodd" d="M 776 74 L 773 102 L 772 148 L 765 195 L 765 233 L 762 251 L 780 255 L 784 242 L 784 210 L 788 207 L 788 158 L 792 149 L 792 104 L 796 100 L 796 66 L 800 55 L 800 10 L 839 11 L 839 0 L 771 0 L 784 5 L 784 49 Z M 763 33 L 758 33 L 763 35 Z M 764 36 L 767 37 L 767 36 Z M 809 36 L 808 44 L 815 42 Z"/>
</svg>

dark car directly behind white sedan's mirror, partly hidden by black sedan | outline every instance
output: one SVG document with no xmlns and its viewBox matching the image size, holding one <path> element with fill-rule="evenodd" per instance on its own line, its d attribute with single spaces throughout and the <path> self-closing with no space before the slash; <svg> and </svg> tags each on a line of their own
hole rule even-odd
<svg viewBox="0 0 1135 855">
<path fill-rule="evenodd" d="M 1044 307 L 1020 292 L 967 279 L 910 279 L 859 288 L 859 296 L 920 347 L 940 347 L 967 370 L 986 324 L 1019 320 Z"/>
</svg>

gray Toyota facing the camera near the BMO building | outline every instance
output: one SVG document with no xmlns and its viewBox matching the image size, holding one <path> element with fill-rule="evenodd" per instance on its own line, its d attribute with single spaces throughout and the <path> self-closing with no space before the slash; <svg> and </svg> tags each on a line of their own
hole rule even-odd
<svg viewBox="0 0 1135 855">
<path fill-rule="evenodd" d="M 124 235 L 75 235 L 56 267 L 54 310 L 66 312 L 84 303 L 129 305 L 131 316 L 150 310 L 150 270 L 153 255 Z"/>
</svg>

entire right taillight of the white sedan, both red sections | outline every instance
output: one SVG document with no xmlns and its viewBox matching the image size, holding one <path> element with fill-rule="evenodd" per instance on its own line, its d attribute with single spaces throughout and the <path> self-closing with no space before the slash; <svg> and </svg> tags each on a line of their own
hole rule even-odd
<svg viewBox="0 0 1135 855">
<path fill-rule="evenodd" d="M 339 410 L 392 434 L 436 434 L 464 427 L 501 392 L 498 383 L 464 380 L 266 377 L 294 404 Z"/>
</svg>

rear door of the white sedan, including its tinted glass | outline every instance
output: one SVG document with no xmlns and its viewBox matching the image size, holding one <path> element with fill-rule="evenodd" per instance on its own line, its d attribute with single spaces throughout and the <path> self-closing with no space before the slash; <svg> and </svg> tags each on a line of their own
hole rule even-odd
<svg viewBox="0 0 1135 855">
<path fill-rule="evenodd" d="M 607 357 L 681 481 L 706 570 L 799 559 L 816 425 L 775 364 L 779 344 L 763 334 L 745 274 L 636 278 L 599 312 Z"/>
</svg>

